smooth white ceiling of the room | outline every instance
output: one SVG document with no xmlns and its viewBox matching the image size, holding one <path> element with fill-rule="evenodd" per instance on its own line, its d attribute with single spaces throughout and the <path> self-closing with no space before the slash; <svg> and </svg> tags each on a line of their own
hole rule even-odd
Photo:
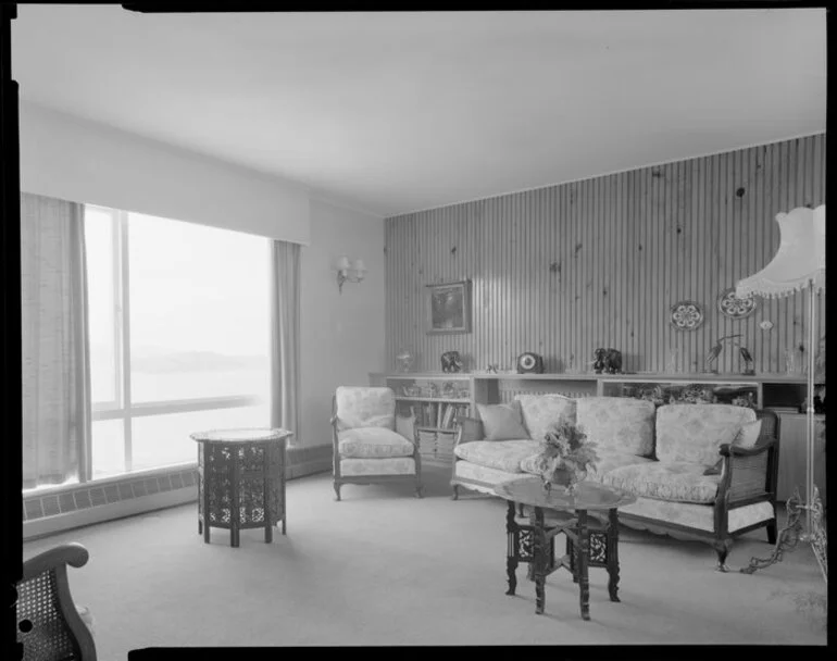
<svg viewBox="0 0 837 661">
<path fill-rule="evenodd" d="M 23 100 L 378 215 L 825 130 L 824 9 L 18 5 Z"/>
</svg>

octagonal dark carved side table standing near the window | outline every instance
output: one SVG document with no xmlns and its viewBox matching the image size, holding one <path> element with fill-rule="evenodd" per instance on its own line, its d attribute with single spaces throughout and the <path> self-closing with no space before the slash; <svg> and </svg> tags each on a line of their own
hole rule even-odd
<svg viewBox="0 0 837 661">
<path fill-rule="evenodd" d="M 229 528 L 229 545 L 239 545 L 241 528 L 285 525 L 285 429 L 213 429 L 190 434 L 198 441 L 198 534 L 210 541 L 210 527 Z"/>
</svg>

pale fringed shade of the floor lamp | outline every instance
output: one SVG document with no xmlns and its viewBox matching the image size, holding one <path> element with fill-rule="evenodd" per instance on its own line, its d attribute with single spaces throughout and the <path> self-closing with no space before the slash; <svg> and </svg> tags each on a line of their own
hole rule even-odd
<svg viewBox="0 0 837 661">
<path fill-rule="evenodd" d="M 779 249 L 770 264 L 738 282 L 735 295 L 776 298 L 805 287 L 825 288 L 825 204 L 776 214 Z"/>
</svg>

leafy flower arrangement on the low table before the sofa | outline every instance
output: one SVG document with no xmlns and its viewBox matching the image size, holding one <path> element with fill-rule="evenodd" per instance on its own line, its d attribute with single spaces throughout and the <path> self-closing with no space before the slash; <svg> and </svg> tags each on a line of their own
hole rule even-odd
<svg viewBox="0 0 837 661">
<path fill-rule="evenodd" d="M 575 490 L 587 472 L 596 467 L 599 458 L 595 448 L 596 444 L 587 440 L 582 427 L 564 420 L 558 423 L 541 441 L 538 466 L 544 488 L 550 490 L 553 483 L 566 482 L 567 490 Z"/>
</svg>

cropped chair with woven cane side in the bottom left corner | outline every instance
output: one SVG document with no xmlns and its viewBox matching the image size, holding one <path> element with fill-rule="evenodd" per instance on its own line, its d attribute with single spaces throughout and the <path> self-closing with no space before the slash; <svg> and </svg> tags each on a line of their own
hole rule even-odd
<svg viewBox="0 0 837 661">
<path fill-rule="evenodd" d="M 84 566 L 89 553 L 65 544 L 23 563 L 17 583 L 17 643 L 24 661 L 96 661 L 90 629 L 70 594 L 66 568 Z"/>
</svg>

